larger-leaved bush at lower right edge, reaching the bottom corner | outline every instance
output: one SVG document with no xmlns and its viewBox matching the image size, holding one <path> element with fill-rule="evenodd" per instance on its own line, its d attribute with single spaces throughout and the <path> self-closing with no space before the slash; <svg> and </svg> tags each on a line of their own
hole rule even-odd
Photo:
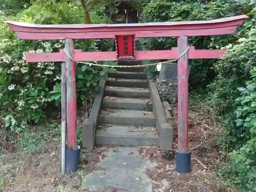
<svg viewBox="0 0 256 192">
<path fill-rule="evenodd" d="M 241 191 L 256 190 L 256 67 L 251 71 L 252 80 L 246 88 L 239 88 L 240 97 L 236 99 L 238 108 L 234 112 L 230 132 L 239 132 L 240 141 L 245 142 L 238 150 L 229 153 L 230 162 L 220 169 L 223 183 L 240 188 Z M 233 137 L 236 142 L 236 137 Z"/>
</svg>

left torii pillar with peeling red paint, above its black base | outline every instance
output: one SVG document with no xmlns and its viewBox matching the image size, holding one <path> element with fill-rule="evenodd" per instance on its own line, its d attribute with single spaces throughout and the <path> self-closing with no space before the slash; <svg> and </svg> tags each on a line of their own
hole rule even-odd
<svg viewBox="0 0 256 192">
<path fill-rule="evenodd" d="M 65 40 L 65 49 L 69 55 L 74 57 L 74 40 Z M 65 63 L 67 68 L 67 145 L 69 149 L 76 150 L 76 129 L 77 129 L 77 106 L 76 106 L 76 67 L 75 62 L 66 55 Z"/>
</svg>

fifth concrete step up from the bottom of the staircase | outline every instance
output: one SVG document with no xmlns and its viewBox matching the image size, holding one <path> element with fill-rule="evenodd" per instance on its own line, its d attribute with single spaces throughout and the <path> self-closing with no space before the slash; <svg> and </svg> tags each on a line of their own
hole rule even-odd
<svg viewBox="0 0 256 192">
<path fill-rule="evenodd" d="M 126 88 L 148 88 L 147 80 L 143 79 L 115 79 L 109 78 L 106 86 L 126 87 Z"/>
</svg>

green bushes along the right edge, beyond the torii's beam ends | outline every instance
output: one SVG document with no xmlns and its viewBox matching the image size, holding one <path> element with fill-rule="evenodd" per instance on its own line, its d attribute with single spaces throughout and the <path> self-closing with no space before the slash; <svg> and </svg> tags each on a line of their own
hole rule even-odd
<svg viewBox="0 0 256 192">
<path fill-rule="evenodd" d="M 229 162 L 219 171 L 222 184 L 240 191 L 256 190 L 256 27 L 255 7 L 238 34 L 238 40 L 226 46 L 227 54 L 215 65 L 217 78 L 208 88 L 209 102 L 223 115 L 219 144 Z"/>
</svg>

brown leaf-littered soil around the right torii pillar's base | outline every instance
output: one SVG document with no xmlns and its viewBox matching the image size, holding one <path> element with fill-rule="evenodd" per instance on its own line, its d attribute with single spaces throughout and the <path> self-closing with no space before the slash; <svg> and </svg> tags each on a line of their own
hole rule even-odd
<svg viewBox="0 0 256 192">
<path fill-rule="evenodd" d="M 200 113 L 189 110 L 188 139 L 191 148 L 191 173 L 180 175 L 176 172 L 175 150 L 177 150 L 177 113 L 174 110 L 175 139 L 173 149 L 161 154 L 158 147 L 140 147 L 139 152 L 156 162 L 154 169 L 148 169 L 155 191 L 159 191 L 161 180 L 171 184 L 162 192 L 217 192 L 238 191 L 233 188 L 220 187 L 217 178 L 218 167 L 225 164 L 225 156 L 216 145 L 215 138 L 220 133 L 220 126 L 209 110 Z M 153 190 L 154 191 L 154 190 Z"/>
</svg>

